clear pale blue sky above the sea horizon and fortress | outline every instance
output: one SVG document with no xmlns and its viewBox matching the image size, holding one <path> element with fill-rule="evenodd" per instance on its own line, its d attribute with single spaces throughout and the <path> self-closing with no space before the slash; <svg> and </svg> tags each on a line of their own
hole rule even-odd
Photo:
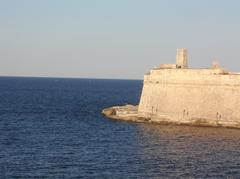
<svg viewBox="0 0 240 179">
<path fill-rule="evenodd" d="M 142 79 L 175 63 L 240 71 L 239 0 L 0 0 L 0 76 Z"/>
</svg>

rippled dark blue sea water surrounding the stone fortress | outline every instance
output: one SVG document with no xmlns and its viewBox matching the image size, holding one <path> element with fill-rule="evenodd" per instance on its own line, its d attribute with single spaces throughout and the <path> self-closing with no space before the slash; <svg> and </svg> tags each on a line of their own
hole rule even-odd
<svg viewBox="0 0 240 179">
<path fill-rule="evenodd" d="M 240 130 L 106 119 L 142 81 L 0 78 L 0 178 L 240 178 Z"/>
</svg>

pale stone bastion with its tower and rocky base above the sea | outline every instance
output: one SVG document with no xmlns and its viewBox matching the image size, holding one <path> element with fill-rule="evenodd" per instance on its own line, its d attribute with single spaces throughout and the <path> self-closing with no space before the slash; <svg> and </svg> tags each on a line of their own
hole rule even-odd
<svg viewBox="0 0 240 179">
<path fill-rule="evenodd" d="M 176 64 L 160 65 L 144 76 L 139 105 L 102 113 L 125 121 L 240 128 L 240 74 L 216 63 L 188 68 L 187 50 L 177 49 Z"/>
</svg>

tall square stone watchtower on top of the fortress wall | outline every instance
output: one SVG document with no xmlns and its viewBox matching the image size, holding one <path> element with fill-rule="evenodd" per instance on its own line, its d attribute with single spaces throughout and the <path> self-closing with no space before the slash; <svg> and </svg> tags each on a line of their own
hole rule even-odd
<svg viewBox="0 0 240 179">
<path fill-rule="evenodd" d="M 177 68 L 188 68 L 187 49 L 177 49 L 176 67 Z"/>
</svg>

